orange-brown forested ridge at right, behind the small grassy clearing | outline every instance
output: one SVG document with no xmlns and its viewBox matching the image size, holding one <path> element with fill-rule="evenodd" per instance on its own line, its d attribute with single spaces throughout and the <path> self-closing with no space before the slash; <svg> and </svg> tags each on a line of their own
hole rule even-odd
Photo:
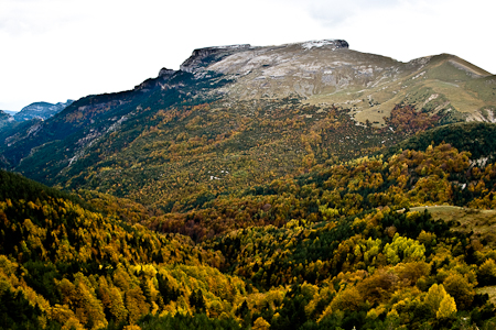
<svg viewBox="0 0 496 330">
<path fill-rule="evenodd" d="M 485 162 L 481 166 L 475 161 L 471 153 L 459 152 L 450 144 L 429 145 L 423 151 L 405 150 L 389 157 L 319 165 L 308 174 L 233 193 L 213 190 L 193 201 L 177 200 L 172 211 L 143 208 L 131 218 L 157 231 L 203 240 L 250 226 L 280 227 L 292 219 L 319 222 L 385 206 L 494 208 L 495 165 Z"/>
</svg>

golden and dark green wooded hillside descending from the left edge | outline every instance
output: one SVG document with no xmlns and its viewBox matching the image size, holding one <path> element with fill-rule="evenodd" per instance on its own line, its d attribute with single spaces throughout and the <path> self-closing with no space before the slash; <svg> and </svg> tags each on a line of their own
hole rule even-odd
<svg viewBox="0 0 496 330">
<path fill-rule="evenodd" d="M 218 253 L 186 238 L 129 226 L 18 175 L 0 178 L 2 329 L 122 329 L 149 312 L 205 309 L 202 292 L 219 312 L 233 308 L 228 292 L 245 293 L 212 267 Z"/>
</svg>

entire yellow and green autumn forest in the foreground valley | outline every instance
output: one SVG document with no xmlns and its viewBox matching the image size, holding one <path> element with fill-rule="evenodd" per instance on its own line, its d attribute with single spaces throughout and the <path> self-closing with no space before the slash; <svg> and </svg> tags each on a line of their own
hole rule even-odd
<svg viewBox="0 0 496 330">
<path fill-rule="evenodd" d="M 1 170 L 0 327 L 495 329 L 496 164 L 434 140 L 170 209 Z"/>
</svg>

